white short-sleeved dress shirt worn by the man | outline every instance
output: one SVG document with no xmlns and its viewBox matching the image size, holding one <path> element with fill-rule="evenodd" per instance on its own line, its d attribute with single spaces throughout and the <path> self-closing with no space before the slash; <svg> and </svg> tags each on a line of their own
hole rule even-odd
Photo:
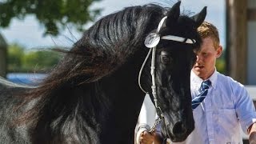
<svg viewBox="0 0 256 144">
<path fill-rule="evenodd" d="M 210 76 L 212 85 L 204 101 L 193 110 L 194 131 L 186 144 L 242 144 L 240 126 L 245 134 L 256 122 L 252 99 L 245 87 L 234 79 L 214 71 Z M 192 99 L 199 94 L 202 79 L 191 71 L 190 87 Z"/>
</svg>

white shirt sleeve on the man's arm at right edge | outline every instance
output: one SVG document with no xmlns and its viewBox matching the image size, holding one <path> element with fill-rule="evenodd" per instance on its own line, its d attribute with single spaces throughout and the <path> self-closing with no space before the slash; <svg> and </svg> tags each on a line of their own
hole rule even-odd
<svg viewBox="0 0 256 144">
<path fill-rule="evenodd" d="M 242 130 L 245 134 L 248 134 L 247 129 L 256 122 L 254 102 L 246 88 L 241 84 L 234 90 L 234 96 L 236 98 L 235 110 L 238 114 L 238 120 Z"/>
</svg>

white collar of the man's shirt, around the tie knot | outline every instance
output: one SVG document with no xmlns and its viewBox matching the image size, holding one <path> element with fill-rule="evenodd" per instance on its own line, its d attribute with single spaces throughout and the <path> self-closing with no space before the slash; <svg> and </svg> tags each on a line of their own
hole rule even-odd
<svg viewBox="0 0 256 144">
<path fill-rule="evenodd" d="M 211 86 L 213 86 L 214 89 L 216 88 L 216 83 L 217 83 L 217 78 L 218 78 L 217 73 L 218 72 L 217 72 L 216 67 L 215 67 L 214 74 L 212 74 L 210 76 L 210 78 L 208 78 L 208 79 L 210 79 Z M 203 80 L 202 80 L 202 78 L 199 78 L 198 75 L 194 74 L 193 70 L 191 70 L 190 81 L 193 82 L 193 83 L 201 85 Z"/>
</svg>

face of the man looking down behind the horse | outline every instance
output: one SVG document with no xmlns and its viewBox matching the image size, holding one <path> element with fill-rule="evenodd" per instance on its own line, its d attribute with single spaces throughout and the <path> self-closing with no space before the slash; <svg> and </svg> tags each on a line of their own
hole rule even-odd
<svg viewBox="0 0 256 144">
<path fill-rule="evenodd" d="M 209 78 L 214 73 L 216 58 L 221 54 L 222 46 L 215 49 L 212 38 L 203 38 L 201 49 L 197 52 L 197 60 L 192 69 L 194 74 L 203 80 Z"/>
</svg>

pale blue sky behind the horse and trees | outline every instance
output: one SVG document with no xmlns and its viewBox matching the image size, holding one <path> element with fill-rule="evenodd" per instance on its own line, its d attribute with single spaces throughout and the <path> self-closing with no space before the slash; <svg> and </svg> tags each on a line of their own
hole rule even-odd
<svg viewBox="0 0 256 144">
<path fill-rule="evenodd" d="M 4 1 L 4 0 L 0 0 Z M 150 2 L 158 2 L 163 6 L 172 6 L 176 0 L 102 0 L 94 2 L 91 8 L 102 8 L 102 14 L 97 19 L 107 14 L 122 10 L 126 6 L 144 5 Z M 190 11 L 197 14 L 204 6 L 207 6 L 206 21 L 217 26 L 222 46 L 226 46 L 226 17 L 224 0 L 182 0 L 181 12 Z M 87 24 L 90 26 L 93 23 Z M 33 15 L 27 16 L 24 20 L 14 18 L 10 26 L 0 28 L 0 34 L 6 39 L 7 43 L 18 43 L 27 49 L 42 48 L 48 46 L 66 46 L 70 47 L 80 37 L 81 33 L 76 30 L 63 30 L 58 38 L 46 36 L 43 37 L 45 28 L 40 25 Z M 70 33 L 71 31 L 71 33 Z"/>
</svg>

